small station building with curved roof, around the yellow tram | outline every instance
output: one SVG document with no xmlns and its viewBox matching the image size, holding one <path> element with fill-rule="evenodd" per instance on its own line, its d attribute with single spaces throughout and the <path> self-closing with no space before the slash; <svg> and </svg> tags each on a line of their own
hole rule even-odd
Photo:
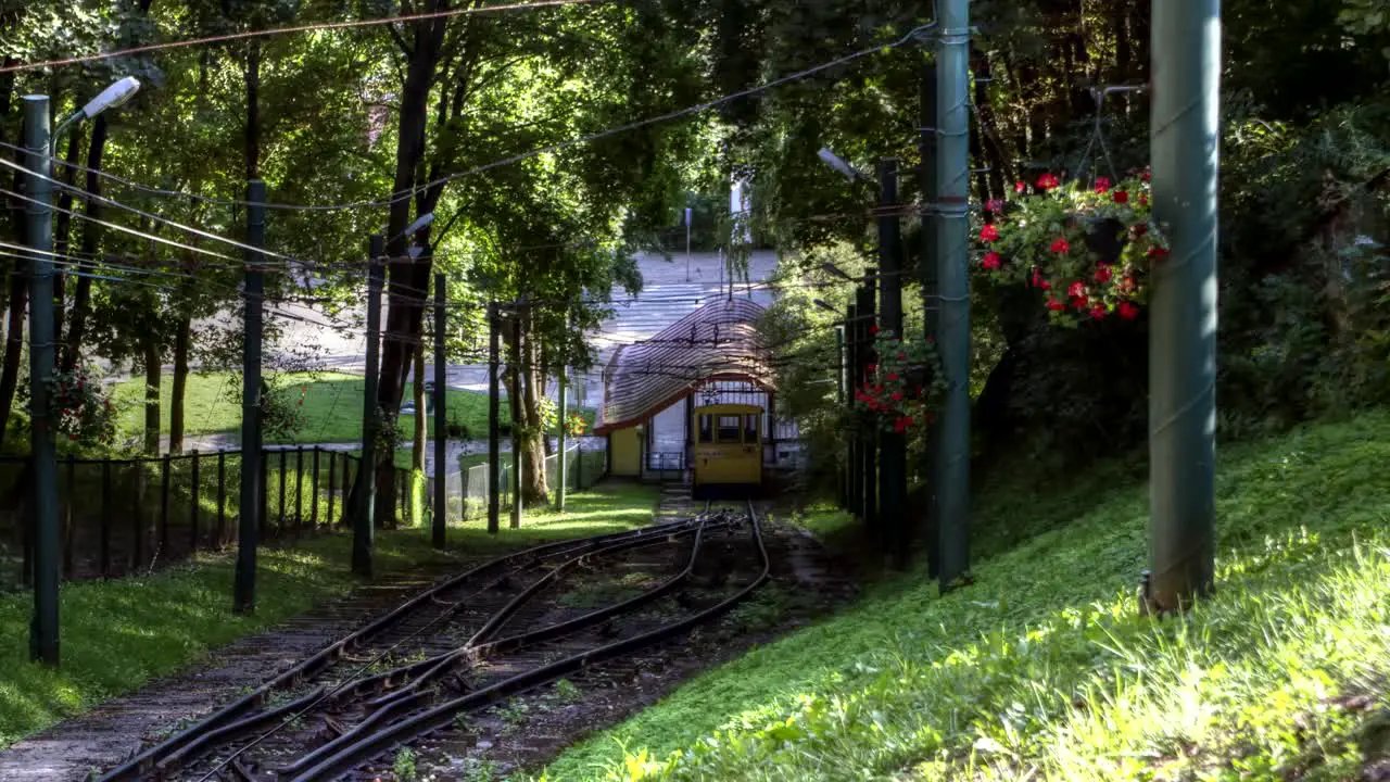
<svg viewBox="0 0 1390 782">
<path fill-rule="evenodd" d="M 717 398 L 773 408 L 771 353 L 756 326 L 762 313 L 762 306 L 744 298 L 716 299 L 655 337 L 613 353 L 603 369 L 605 402 L 594 427 L 594 434 L 609 437 L 610 474 L 639 477 L 653 470 L 684 470 L 691 444 L 689 410 L 696 405 Z M 684 423 L 673 433 L 680 437 L 681 458 L 653 463 L 653 420 L 682 401 L 678 409 Z M 771 419 L 764 417 L 771 436 Z"/>
</svg>

